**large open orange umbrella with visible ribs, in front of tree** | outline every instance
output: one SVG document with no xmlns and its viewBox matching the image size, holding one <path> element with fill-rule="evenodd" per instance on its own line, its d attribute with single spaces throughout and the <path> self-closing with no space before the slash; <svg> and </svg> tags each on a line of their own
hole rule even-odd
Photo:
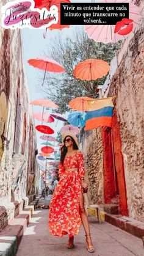
<svg viewBox="0 0 144 256">
<path fill-rule="evenodd" d="M 109 64 L 101 59 L 87 59 L 74 68 L 73 75 L 81 80 L 96 80 L 103 78 L 109 71 Z"/>
</svg>

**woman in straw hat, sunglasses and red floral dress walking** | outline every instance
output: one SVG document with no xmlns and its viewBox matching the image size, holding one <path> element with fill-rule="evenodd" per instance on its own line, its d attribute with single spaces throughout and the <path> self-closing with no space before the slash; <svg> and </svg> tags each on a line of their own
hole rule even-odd
<svg viewBox="0 0 144 256">
<path fill-rule="evenodd" d="M 52 196 L 49 209 L 51 235 L 62 237 L 68 234 L 68 248 L 74 247 L 74 235 L 84 226 L 87 250 L 94 252 L 82 191 L 84 183 L 84 157 L 78 150 L 77 137 L 70 132 L 62 134 L 63 147 L 59 164 L 60 181 Z"/>
</svg>

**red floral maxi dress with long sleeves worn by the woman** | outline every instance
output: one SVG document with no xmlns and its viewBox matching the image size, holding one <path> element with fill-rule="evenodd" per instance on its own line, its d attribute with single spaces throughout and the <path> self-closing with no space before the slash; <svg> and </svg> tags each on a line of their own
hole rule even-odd
<svg viewBox="0 0 144 256">
<path fill-rule="evenodd" d="M 59 177 L 49 206 L 49 231 L 54 236 L 77 235 L 81 225 L 81 178 L 84 177 L 84 156 L 81 152 L 65 156 L 63 164 L 59 164 Z"/>
</svg>

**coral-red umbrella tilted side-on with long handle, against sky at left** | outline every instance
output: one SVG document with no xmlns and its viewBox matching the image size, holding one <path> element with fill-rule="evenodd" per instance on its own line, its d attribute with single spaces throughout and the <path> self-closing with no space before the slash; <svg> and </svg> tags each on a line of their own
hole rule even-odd
<svg viewBox="0 0 144 256">
<path fill-rule="evenodd" d="M 58 62 L 56 62 L 56 60 L 48 59 L 45 57 L 40 57 L 37 59 L 29 59 L 27 62 L 35 68 L 39 68 L 40 70 L 45 70 L 42 86 L 45 81 L 46 71 L 56 72 L 56 73 L 63 73 L 65 71 L 65 68 L 63 68 Z"/>
</svg>

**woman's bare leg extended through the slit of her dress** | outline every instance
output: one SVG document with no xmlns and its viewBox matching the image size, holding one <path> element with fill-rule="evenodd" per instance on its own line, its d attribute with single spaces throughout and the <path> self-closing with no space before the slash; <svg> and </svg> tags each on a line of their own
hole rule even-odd
<svg viewBox="0 0 144 256">
<path fill-rule="evenodd" d="M 86 241 L 87 241 L 88 247 L 93 249 L 93 244 L 92 244 L 92 240 L 90 237 L 90 227 L 89 227 L 89 223 L 88 223 L 87 213 L 86 213 L 85 207 L 84 207 L 84 195 L 82 194 L 82 192 L 81 192 L 80 198 L 79 198 L 79 207 L 80 207 L 82 224 L 83 224 L 84 230 L 85 230 Z"/>
</svg>

